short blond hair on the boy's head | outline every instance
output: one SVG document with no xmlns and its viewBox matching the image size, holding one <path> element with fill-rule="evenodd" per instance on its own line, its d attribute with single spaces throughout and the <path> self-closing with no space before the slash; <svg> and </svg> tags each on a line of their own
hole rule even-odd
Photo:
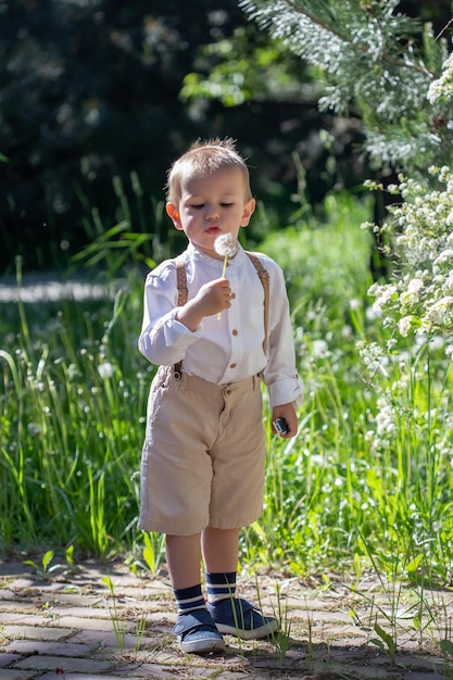
<svg viewBox="0 0 453 680">
<path fill-rule="evenodd" d="M 249 168 L 246 160 L 237 152 L 230 137 L 196 141 L 186 153 L 177 159 L 168 171 L 166 198 L 177 205 L 181 196 L 183 177 L 205 177 L 225 167 L 238 167 L 243 175 L 246 201 L 252 198 Z"/>
</svg>

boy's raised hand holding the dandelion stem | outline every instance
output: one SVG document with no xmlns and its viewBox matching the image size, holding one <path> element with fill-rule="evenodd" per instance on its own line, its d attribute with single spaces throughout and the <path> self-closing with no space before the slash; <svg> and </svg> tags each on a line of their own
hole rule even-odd
<svg viewBox="0 0 453 680">
<path fill-rule="evenodd" d="M 178 310 L 176 318 L 189 330 L 197 330 L 204 316 L 218 314 L 231 306 L 231 288 L 226 278 L 207 281 L 198 291 L 193 300 L 189 300 Z"/>
</svg>

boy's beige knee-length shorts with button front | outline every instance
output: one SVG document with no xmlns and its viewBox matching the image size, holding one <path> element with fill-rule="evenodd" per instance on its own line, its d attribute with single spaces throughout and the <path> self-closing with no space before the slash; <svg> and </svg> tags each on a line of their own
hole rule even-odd
<svg viewBox="0 0 453 680">
<path fill-rule="evenodd" d="M 214 385 L 158 372 L 148 402 L 139 527 L 192 536 L 235 529 L 263 508 L 261 378 Z"/>
</svg>

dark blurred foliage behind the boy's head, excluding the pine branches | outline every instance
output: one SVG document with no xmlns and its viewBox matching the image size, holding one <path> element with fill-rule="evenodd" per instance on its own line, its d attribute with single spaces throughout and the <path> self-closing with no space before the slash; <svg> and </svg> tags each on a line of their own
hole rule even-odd
<svg viewBox="0 0 453 680">
<path fill-rule="evenodd" d="M 334 131 L 341 181 L 358 184 L 360 126 L 319 115 L 304 64 L 272 45 L 236 0 L 1 0 L 0 60 L 0 270 L 9 274 L 17 254 L 25 270 L 63 269 L 91 239 L 87 205 L 104 229 L 114 226 L 114 178 L 129 198 L 139 182 L 133 228 L 155 232 L 166 169 L 198 137 L 239 140 L 257 198 L 281 222 L 297 190 L 294 152 L 314 202 L 339 179 L 323 175 L 329 154 L 319 129 Z M 222 60 L 246 95 L 191 97 L 193 78 Z"/>
</svg>

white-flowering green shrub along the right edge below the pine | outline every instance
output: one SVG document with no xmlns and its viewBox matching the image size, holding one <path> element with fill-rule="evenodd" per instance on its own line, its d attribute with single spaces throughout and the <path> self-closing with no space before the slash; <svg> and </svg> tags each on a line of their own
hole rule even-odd
<svg viewBox="0 0 453 680">
<path fill-rule="evenodd" d="M 385 340 L 361 341 L 358 352 L 379 394 L 370 416 L 372 448 L 401 451 L 403 457 L 410 449 L 427 449 L 433 458 L 450 461 L 453 173 L 446 166 L 430 167 L 428 178 L 435 188 L 430 181 L 402 176 L 398 187 L 389 187 L 403 199 L 390 207 L 391 219 L 383 227 L 393 270 L 388 282 L 375 282 L 368 290 L 373 312 L 382 319 Z M 440 471 L 435 475 L 431 459 L 426 468 L 432 470 L 436 487 Z M 445 470 L 442 475 L 444 482 Z"/>
</svg>

